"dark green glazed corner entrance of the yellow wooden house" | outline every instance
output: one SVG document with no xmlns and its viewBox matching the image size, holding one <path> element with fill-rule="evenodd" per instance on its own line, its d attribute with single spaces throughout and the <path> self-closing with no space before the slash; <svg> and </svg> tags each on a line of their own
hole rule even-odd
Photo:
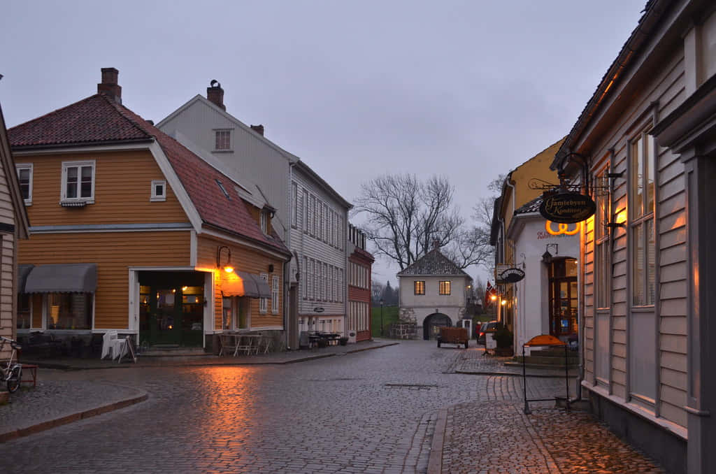
<svg viewBox="0 0 716 474">
<path fill-rule="evenodd" d="M 140 344 L 201 347 L 204 274 L 142 271 L 139 281 Z"/>
</svg>

